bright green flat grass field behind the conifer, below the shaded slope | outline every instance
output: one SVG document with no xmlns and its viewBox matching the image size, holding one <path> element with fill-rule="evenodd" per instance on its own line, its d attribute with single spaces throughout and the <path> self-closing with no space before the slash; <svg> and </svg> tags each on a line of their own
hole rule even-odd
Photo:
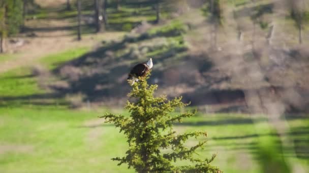
<svg viewBox="0 0 309 173">
<path fill-rule="evenodd" d="M 0 109 L 0 171 L 1 172 L 134 172 L 110 160 L 123 156 L 126 138 L 113 125 L 97 118 L 101 111 L 68 109 Z M 213 164 L 225 172 L 263 172 L 260 159 L 281 166 L 283 159 L 308 164 L 303 158 L 282 156 L 279 138 L 263 119 L 254 123 L 246 115 L 203 115 L 176 124 L 178 132 L 205 130 L 208 143 L 200 157 L 217 153 Z M 308 142 L 309 119 L 288 121 L 288 138 L 297 141 L 296 151 Z M 191 140 L 190 143 L 196 142 Z M 262 148 L 268 150 L 263 153 Z M 287 151 L 285 151 L 287 152 Z M 307 151 L 306 151 L 307 152 Z M 265 156 L 264 156 L 265 154 Z M 264 160 L 265 161 L 265 160 Z M 179 164 L 182 164 L 180 162 Z M 306 167 L 308 170 L 308 167 Z"/>
</svg>

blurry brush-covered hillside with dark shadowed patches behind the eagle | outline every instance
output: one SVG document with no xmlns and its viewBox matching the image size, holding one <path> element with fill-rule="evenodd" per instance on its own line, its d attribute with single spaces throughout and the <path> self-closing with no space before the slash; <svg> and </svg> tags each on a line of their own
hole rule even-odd
<svg viewBox="0 0 309 173">
<path fill-rule="evenodd" d="M 160 25 L 144 23 L 133 30 L 144 27 L 140 33 L 104 41 L 97 50 L 59 66 L 54 74 L 61 76 L 67 88 L 55 91 L 82 93 L 84 101 L 122 106 L 130 90 L 128 71 L 152 57 L 150 82 L 161 86 L 158 93 L 183 95 L 185 101 L 206 112 L 307 110 L 308 75 L 304 74 L 309 74 L 305 68 L 309 65 L 305 49 L 308 38 L 304 34 L 304 44 L 295 44 L 297 36 L 291 19 L 281 23 L 281 17 L 275 18 L 276 7 L 268 1 L 238 5 L 235 9 L 227 6 L 225 15 L 236 13 L 237 17 L 225 19 L 216 32 L 213 24 L 194 8 Z M 248 16 L 251 11 L 259 13 L 261 20 L 270 16 L 273 22 L 266 28 L 255 26 Z M 241 40 L 238 25 L 245 25 Z M 271 43 L 267 36 L 270 32 Z"/>
</svg>

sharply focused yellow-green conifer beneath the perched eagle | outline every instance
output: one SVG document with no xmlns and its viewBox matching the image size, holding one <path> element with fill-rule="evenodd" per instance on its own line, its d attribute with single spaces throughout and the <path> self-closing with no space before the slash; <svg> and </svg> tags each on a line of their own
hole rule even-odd
<svg viewBox="0 0 309 173">
<path fill-rule="evenodd" d="M 136 102 L 128 101 L 125 107 L 131 113 L 130 117 L 110 113 L 102 116 L 106 119 L 105 122 L 114 123 L 128 138 L 129 150 L 126 156 L 112 160 L 119 161 L 118 165 L 127 163 L 129 168 L 133 167 L 137 172 L 221 172 L 219 168 L 209 164 L 215 155 L 210 159 L 194 157 L 196 150 L 202 148 L 206 141 L 190 148 L 184 146 L 190 137 L 206 137 L 206 132 L 177 134 L 173 131 L 174 122 L 181 122 L 183 118 L 191 117 L 196 112 L 170 115 L 176 108 L 189 104 L 182 103 L 181 97 L 173 100 L 167 100 L 165 96 L 154 97 L 153 93 L 158 85 L 147 84 L 149 75 L 148 73 L 146 78 L 135 82 L 128 95 L 136 99 Z M 173 165 L 177 160 L 188 160 L 194 164 Z"/>
</svg>

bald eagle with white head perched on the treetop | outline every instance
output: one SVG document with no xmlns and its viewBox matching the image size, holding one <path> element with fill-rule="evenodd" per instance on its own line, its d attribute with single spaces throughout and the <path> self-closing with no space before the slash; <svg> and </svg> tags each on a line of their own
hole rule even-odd
<svg viewBox="0 0 309 173">
<path fill-rule="evenodd" d="M 128 76 L 128 80 L 132 80 L 132 84 L 138 81 L 138 77 L 145 77 L 147 72 L 152 68 L 152 59 L 150 58 L 147 63 L 141 63 L 134 66 Z"/>
</svg>

